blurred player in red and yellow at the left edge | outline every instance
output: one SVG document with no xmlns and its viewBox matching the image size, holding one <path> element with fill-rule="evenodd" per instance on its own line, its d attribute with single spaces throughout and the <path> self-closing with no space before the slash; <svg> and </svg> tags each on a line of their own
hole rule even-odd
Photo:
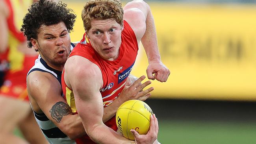
<svg viewBox="0 0 256 144">
<path fill-rule="evenodd" d="M 13 130 L 17 126 L 29 143 L 48 143 L 35 122 L 26 90 L 26 74 L 35 63 L 38 54 L 33 49 L 26 48 L 27 41 L 20 27 L 22 18 L 32 2 L 0 1 L 0 70 L 2 74 L 5 73 L 4 83 L 0 89 L 1 144 L 26 143 L 13 135 Z"/>
</svg>

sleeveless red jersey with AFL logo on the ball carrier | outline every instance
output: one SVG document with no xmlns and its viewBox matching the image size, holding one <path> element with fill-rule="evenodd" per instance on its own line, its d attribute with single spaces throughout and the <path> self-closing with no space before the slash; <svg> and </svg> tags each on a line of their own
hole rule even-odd
<svg viewBox="0 0 256 144">
<path fill-rule="evenodd" d="M 104 107 L 107 107 L 109 104 L 111 104 L 113 100 L 119 96 L 122 89 L 124 89 L 126 79 L 128 78 L 128 75 L 134 66 L 134 62 L 137 56 L 137 39 L 134 31 L 126 21 L 124 21 L 124 30 L 121 33 L 121 41 L 119 57 L 115 61 L 102 59 L 91 46 L 89 39 L 85 38 L 85 35 L 83 36 L 82 41 L 76 45 L 76 47 L 69 55 L 69 57 L 72 57 L 73 55 L 80 55 L 85 57 L 100 68 L 103 80 L 103 87 L 100 89 L 100 93 L 102 95 Z M 65 71 L 63 70 L 61 78 L 63 93 L 65 94 L 67 103 L 72 109 L 72 113 L 77 114 L 76 105 L 74 102 L 74 94 L 72 90 L 69 89 L 65 84 L 64 74 Z M 113 130 L 117 131 L 115 116 L 113 116 L 105 124 L 106 126 L 111 127 Z M 79 138 L 76 142 L 83 142 L 86 144 L 94 143 L 89 139 L 88 136 Z"/>
</svg>

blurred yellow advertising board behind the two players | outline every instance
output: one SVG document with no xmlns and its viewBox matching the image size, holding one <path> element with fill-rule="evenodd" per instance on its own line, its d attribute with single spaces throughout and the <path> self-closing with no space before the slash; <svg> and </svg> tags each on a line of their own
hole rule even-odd
<svg viewBox="0 0 256 144">
<path fill-rule="evenodd" d="M 161 60 L 170 69 L 165 83 L 152 81 L 154 98 L 256 101 L 256 5 L 149 3 Z M 72 41 L 83 35 L 81 3 Z M 146 75 L 140 47 L 132 74 Z"/>
</svg>

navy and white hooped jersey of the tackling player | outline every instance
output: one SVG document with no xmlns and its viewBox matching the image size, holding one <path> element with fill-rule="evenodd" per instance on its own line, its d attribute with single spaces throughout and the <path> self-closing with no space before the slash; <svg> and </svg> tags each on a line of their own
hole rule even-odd
<svg viewBox="0 0 256 144">
<path fill-rule="evenodd" d="M 74 44 L 71 43 L 70 49 L 72 50 L 73 48 Z M 30 69 L 28 74 L 30 74 L 33 71 L 48 72 L 52 74 L 61 85 L 61 71 L 55 70 L 48 66 L 40 55 L 38 56 L 38 59 L 35 60 L 35 65 Z M 37 124 L 43 132 L 43 135 L 50 144 L 76 144 L 74 140 L 71 140 L 51 120 L 49 120 L 44 113 L 39 114 L 34 112 L 34 116 L 35 120 L 37 121 Z"/>
</svg>

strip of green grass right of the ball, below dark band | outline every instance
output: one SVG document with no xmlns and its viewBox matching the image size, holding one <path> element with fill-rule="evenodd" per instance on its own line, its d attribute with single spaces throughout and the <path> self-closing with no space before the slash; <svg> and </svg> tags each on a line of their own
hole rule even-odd
<svg viewBox="0 0 256 144">
<path fill-rule="evenodd" d="M 256 123 L 159 121 L 162 144 L 256 144 Z"/>
</svg>

